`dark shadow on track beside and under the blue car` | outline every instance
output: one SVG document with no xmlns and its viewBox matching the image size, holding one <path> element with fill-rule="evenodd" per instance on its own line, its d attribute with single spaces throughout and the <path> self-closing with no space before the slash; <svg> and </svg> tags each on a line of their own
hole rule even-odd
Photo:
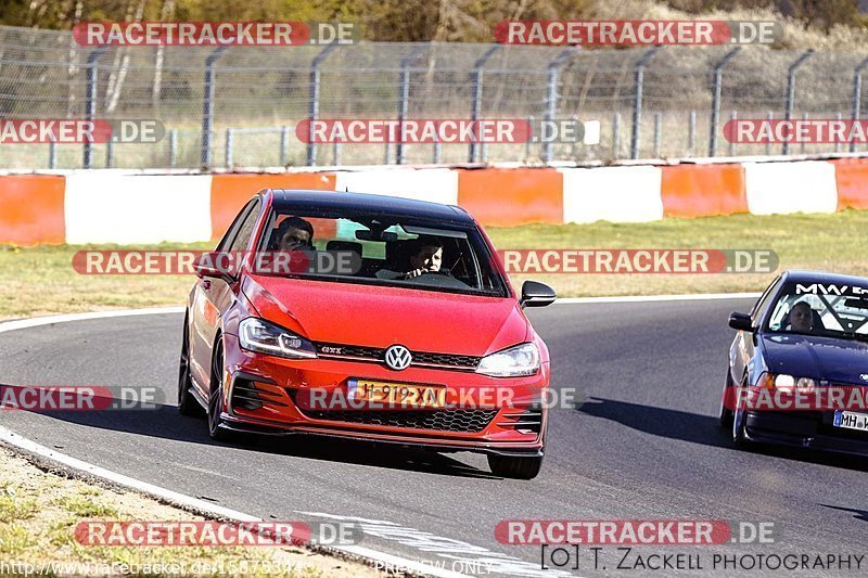
<svg viewBox="0 0 868 578">
<path fill-rule="evenodd" d="M 764 444 L 751 444 L 748 449 L 738 450 L 733 446 L 729 433 L 720 428 L 716 416 L 598 397 L 588 398 L 587 402 L 576 407 L 576 411 L 617 422 L 652 436 L 844 470 L 868 472 L 868 460 L 856 455 L 824 453 L 815 450 Z"/>
</svg>

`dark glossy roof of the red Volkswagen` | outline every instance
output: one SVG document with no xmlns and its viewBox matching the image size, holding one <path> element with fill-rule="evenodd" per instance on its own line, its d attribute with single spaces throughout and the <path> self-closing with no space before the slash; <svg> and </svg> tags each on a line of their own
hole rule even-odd
<svg viewBox="0 0 868 578">
<path fill-rule="evenodd" d="M 429 201 L 414 201 L 397 196 L 317 191 L 310 189 L 271 189 L 273 206 L 290 209 L 345 209 L 384 215 L 411 216 L 449 222 L 473 223 L 473 218 L 461 207 Z"/>
</svg>

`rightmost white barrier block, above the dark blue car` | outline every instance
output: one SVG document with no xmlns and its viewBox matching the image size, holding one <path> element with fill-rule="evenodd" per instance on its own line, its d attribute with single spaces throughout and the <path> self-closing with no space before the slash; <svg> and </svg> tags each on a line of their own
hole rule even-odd
<svg viewBox="0 0 868 578">
<path fill-rule="evenodd" d="M 744 163 L 748 208 L 753 215 L 834 213 L 834 165 L 826 160 Z"/>
</svg>

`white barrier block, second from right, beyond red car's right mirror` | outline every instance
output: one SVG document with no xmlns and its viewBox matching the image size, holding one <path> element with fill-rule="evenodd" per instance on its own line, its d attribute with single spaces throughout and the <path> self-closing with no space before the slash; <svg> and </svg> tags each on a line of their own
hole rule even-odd
<svg viewBox="0 0 868 578">
<path fill-rule="evenodd" d="M 561 168 L 564 222 L 647 222 L 663 218 L 659 167 Z"/>
</svg>

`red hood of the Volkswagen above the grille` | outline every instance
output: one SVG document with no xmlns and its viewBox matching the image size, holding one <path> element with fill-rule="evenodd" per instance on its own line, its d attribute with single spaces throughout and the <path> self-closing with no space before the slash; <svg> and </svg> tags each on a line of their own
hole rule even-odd
<svg viewBox="0 0 868 578">
<path fill-rule="evenodd" d="M 265 275 L 243 292 L 263 318 L 314 342 L 484 356 L 531 335 L 512 298 Z"/>
</svg>

